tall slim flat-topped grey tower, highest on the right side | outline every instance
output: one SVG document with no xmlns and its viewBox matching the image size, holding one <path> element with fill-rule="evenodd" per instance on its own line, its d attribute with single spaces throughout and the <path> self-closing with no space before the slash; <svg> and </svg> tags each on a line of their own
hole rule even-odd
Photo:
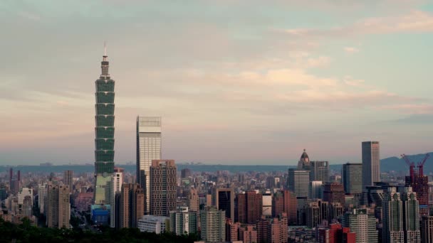
<svg viewBox="0 0 433 243">
<path fill-rule="evenodd" d="M 380 153 L 378 141 L 362 142 L 362 190 L 380 181 Z"/>
</svg>

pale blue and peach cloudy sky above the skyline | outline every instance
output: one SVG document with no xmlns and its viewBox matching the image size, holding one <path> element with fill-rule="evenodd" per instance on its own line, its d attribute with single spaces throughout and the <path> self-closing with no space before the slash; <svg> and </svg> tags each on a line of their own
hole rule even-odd
<svg viewBox="0 0 433 243">
<path fill-rule="evenodd" d="M 433 151 L 431 1 L 4 0 L 0 29 L 0 165 L 94 162 L 104 41 L 115 163 L 137 115 L 177 163 Z"/>
</svg>

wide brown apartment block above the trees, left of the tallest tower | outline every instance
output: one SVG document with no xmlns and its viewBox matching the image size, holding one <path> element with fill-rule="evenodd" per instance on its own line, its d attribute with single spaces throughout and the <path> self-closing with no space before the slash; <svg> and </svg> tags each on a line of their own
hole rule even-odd
<svg viewBox="0 0 433 243">
<path fill-rule="evenodd" d="M 70 219 L 69 185 L 47 185 L 46 225 L 69 228 Z"/>
</svg>

